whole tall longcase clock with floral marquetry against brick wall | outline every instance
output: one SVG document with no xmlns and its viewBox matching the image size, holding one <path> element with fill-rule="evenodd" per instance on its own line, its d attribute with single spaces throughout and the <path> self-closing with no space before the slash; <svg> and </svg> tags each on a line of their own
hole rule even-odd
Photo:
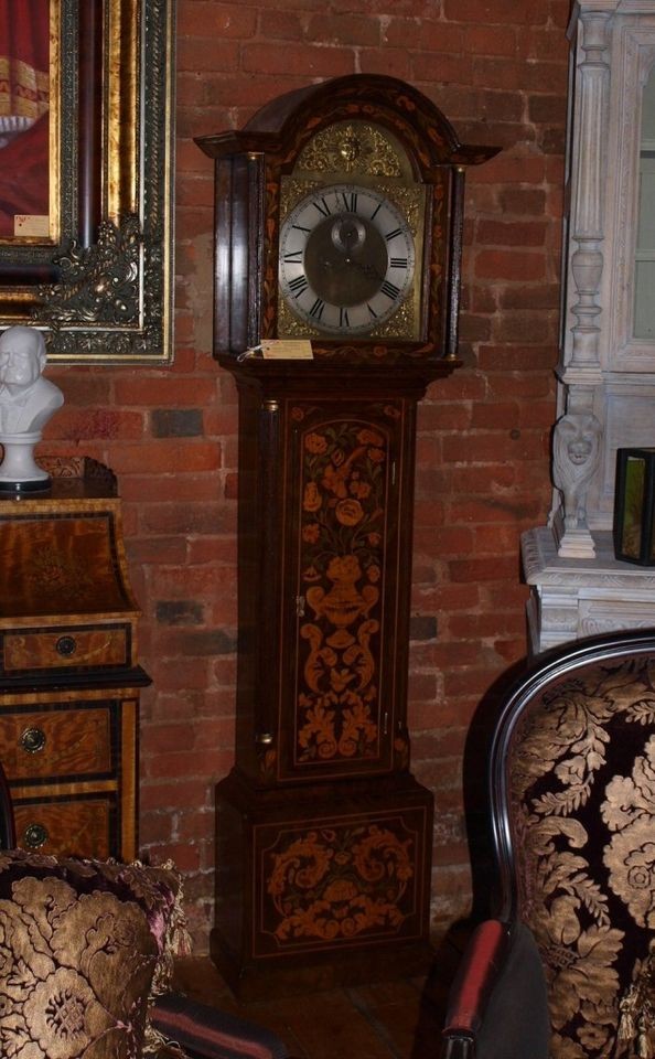
<svg viewBox="0 0 655 1059">
<path fill-rule="evenodd" d="M 458 364 L 463 175 L 496 150 L 366 75 L 198 143 L 215 354 L 239 391 L 212 954 L 243 996 L 410 973 L 430 955 L 433 814 L 406 720 L 416 408 Z"/>
</svg>

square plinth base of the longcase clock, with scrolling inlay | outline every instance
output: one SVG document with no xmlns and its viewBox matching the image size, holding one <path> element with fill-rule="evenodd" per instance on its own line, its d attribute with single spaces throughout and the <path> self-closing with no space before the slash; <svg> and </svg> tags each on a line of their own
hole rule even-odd
<svg viewBox="0 0 655 1059">
<path fill-rule="evenodd" d="M 423 973 L 432 795 L 408 773 L 216 789 L 212 959 L 244 999 Z"/>
</svg>

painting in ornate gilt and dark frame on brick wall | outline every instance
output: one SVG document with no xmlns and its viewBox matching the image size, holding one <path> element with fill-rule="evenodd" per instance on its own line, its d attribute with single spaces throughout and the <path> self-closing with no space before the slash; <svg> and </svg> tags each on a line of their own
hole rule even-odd
<svg viewBox="0 0 655 1059">
<path fill-rule="evenodd" d="M 0 330 L 172 356 L 174 0 L 0 0 Z"/>
</svg>

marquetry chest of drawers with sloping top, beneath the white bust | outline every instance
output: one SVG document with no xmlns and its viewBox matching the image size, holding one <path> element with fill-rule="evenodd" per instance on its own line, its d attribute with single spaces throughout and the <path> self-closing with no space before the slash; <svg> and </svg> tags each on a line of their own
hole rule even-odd
<svg viewBox="0 0 655 1059">
<path fill-rule="evenodd" d="M 47 493 L 0 500 L 0 760 L 18 842 L 137 853 L 137 621 L 111 472 L 41 460 Z"/>
</svg>

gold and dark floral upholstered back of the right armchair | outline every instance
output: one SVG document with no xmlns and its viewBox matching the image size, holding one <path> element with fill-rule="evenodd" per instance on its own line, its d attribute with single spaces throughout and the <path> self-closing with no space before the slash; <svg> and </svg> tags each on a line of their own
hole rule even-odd
<svg viewBox="0 0 655 1059">
<path fill-rule="evenodd" d="M 506 749 L 551 1056 L 655 1056 L 655 654 L 597 656 L 545 684 Z"/>
</svg>

